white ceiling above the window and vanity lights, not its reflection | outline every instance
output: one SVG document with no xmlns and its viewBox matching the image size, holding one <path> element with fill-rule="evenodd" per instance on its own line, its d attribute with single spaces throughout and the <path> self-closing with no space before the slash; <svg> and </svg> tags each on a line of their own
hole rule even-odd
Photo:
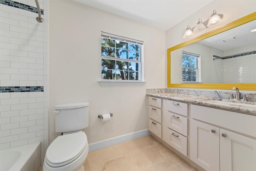
<svg viewBox="0 0 256 171">
<path fill-rule="evenodd" d="M 168 30 L 212 0 L 74 0 L 154 28 Z"/>
</svg>

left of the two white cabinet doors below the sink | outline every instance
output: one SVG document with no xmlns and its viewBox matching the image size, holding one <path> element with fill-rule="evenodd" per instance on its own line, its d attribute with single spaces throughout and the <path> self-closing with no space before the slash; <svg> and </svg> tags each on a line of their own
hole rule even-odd
<svg viewBox="0 0 256 171">
<path fill-rule="evenodd" d="M 190 120 L 190 159 L 207 171 L 220 170 L 220 128 Z"/>
</svg>

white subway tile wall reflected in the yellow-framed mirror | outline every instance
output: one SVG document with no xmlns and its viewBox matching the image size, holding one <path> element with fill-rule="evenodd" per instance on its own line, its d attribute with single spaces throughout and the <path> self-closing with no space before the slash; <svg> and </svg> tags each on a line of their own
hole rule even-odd
<svg viewBox="0 0 256 171">
<path fill-rule="evenodd" d="M 220 52 L 218 52 L 218 50 L 214 50 L 213 52 L 214 55 L 222 57 L 251 51 L 256 51 L 256 44 L 250 44 L 247 46 L 242 46 L 240 48 L 222 51 L 222 55 Z M 216 72 L 215 74 L 213 74 L 213 81 L 214 83 L 220 83 L 224 80 L 225 83 L 255 83 L 255 65 L 256 54 L 239 56 L 236 58 L 229 58 L 225 60 L 214 60 L 213 70 L 215 70 Z"/>
</svg>

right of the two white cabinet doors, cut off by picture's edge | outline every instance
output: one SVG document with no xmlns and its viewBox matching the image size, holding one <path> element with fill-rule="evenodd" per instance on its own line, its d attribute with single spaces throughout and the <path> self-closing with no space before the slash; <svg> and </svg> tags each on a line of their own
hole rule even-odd
<svg viewBox="0 0 256 171">
<path fill-rule="evenodd" d="M 220 171 L 256 171 L 256 139 L 220 129 Z"/>
</svg>

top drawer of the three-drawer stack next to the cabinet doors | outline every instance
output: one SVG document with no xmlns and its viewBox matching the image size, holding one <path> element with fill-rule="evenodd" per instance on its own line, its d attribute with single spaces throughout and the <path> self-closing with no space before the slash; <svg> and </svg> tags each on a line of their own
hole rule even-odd
<svg viewBox="0 0 256 171">
<path fill-rule="evenodd" d="M 188 104 L 178 101 L 167 100 L 167 111 L 188 116 Z"/>
</svg>

